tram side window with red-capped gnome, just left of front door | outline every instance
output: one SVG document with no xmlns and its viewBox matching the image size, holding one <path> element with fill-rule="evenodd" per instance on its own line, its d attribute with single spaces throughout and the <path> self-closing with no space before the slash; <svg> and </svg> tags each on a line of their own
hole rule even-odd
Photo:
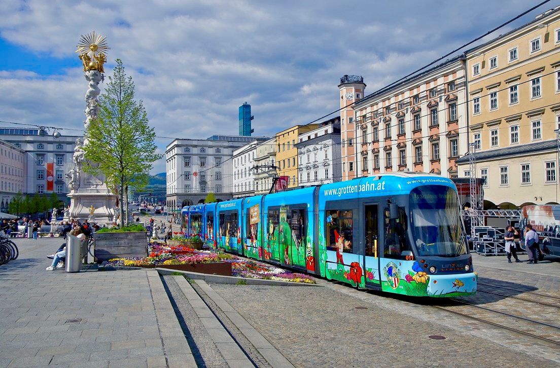
<svg viewBox="0 0 560 368">
<path fill-rule="evenodd" d="M 352 210 L 326 211 L 326 249 L 352 253 Z"/>
</svg>

